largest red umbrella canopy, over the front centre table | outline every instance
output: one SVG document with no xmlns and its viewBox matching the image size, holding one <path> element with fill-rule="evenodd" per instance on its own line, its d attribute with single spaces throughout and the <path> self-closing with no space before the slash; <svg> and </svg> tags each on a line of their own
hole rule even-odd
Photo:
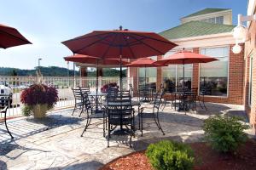
<svg viewBox="0 0 256 170">
<path fill-rule="evenodd" d="M 73 54 L 107 58 L 139 59 L 166 54 L 177 46 L 154 32 L 143 31 L 92 31 L 81 37 L 62 42 Z"/>
</svg>

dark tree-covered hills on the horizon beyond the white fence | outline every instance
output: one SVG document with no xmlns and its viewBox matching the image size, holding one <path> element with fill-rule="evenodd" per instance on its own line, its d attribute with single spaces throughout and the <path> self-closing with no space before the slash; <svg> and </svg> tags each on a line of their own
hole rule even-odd
<svg viewBox="0 0 256 170">
<path fill-rule="evenodd" d="M 35 67 L 35 69 L 32 70 L 0 67 L 0 76 L 36 76 L 37 70 L 38 67 Z M 40 71 L 44 75 L 44 77 L 73 76 L 73 70 L 68 70 L 67 68 L 57 66 L 41 66 Z M 76 71 L 76 75 L 79 76 L 79 74 L 79 71 Z M 126 77 L 126 70 L 123 71 L 123 76 Z M 88 77 L 96 77 L 96 71 L 89 71 Z M 115 69 L 104 68 L 103 77 L 119 77 L 119 71 Z"/>
</svg>

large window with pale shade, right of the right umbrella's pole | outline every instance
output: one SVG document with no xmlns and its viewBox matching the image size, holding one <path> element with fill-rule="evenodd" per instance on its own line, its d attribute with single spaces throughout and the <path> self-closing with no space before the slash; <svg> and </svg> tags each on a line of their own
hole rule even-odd
<svg viewBox="0 0 256 170">
<path fill-rule="evenodd" d="M 201 54 L 218 61 L 200 64 L 200 90 L 206 95 L 227 96 L 229 74 L 229 47 L 201 48 Z"/>
</svg>

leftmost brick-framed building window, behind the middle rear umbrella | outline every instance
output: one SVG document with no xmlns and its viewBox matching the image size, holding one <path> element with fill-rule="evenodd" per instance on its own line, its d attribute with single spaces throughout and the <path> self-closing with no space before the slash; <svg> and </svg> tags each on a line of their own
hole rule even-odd
<svg viewBox="0 0 256 170">
<path fill-rule="evenodd" d="M 151 57 L 151 59 L 156 60 L 157 57 Z M 145 71 L 146 71 L 146 79 L 145 79 Z M 157 70 L 155 67 L 148 67 L 148 68 L 139 68 L 138 69 L 139 74 L 139 85 L 144 85 L 145 81 L 149 85 L 150 88 L 156 89 L 156 74 Z"/>
</svg>

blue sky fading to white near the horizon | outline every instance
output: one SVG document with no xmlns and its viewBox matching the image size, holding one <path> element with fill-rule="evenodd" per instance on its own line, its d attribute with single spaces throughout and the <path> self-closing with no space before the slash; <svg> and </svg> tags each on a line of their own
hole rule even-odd
<svg viewBox="0 0 256 170">
<path fill-rule="evenodd" d="M 0 24 L 13 26 L 32 45 L 0 48 L 0 67 L 33 69 L 67 67 L 63 57 L 73 53 L 61 42 L 94 30 L 119 26 L 160 32 L 178 26 L 180 18 L 203 8 L 231 8 L 247 14 L 247 0 L 0 0 Z"/>
</svg>

